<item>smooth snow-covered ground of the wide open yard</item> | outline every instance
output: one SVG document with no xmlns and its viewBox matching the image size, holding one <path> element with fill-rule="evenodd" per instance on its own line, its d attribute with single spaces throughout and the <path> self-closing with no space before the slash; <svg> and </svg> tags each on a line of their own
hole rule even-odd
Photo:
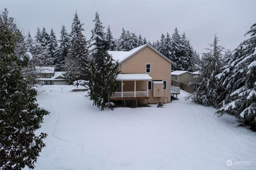
<svg viewBox="0 0 256 170">
<path fill-rule="evenodd" d="M 51 113 L 38 131 L 48 137 L 36 170 L 256 169 L 256 133 L 184 101 L 185 91 L 163 108 L 99 111 L 74 86 L 43 88 L 37 100 Z"/>
</svg>

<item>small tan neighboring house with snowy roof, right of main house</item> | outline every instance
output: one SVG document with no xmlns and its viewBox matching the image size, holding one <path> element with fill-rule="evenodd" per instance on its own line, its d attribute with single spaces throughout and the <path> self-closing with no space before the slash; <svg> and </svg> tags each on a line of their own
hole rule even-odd
<svg viewBox="0 0 256 170">
<path fill-rule="evenodd" d="M 172 71 L 172 81 L 177 81 L 177 82 L 180 82 L 180 83 L 189 83 L 190 80 L 194 77 L 194 75 L 189 72 L 189 71 L 180 71 L 180 70 L 177 70 L 177 71 Z"/>
</svg>

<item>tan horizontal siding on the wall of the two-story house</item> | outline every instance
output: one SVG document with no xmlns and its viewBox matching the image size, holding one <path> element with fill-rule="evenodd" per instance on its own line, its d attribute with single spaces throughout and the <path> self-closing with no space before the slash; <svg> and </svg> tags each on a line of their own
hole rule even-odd
<svg viewBox="0 0 256 170">
<path fill-rule="evenodd" d="M 146 63 L 151 64 L 151 73 L 148 73 L 148 75 L 152 77 L 152 80 L 167 81 L 166 90 L 164 90 L 164 97 L 168 97 L 168 102 L 170 102 L 170 62 L 164 59 L 164 57 L 156 53 L 150 47 L 145 47 L 144 49 L 124 61 L 122 63 L 122 73 L 146 73 Z M 145 81 L 145 83 L 147 83 L 147 81 Z M 147 89 L 146 87 L 145 90 Z M 158 97 L 153 97 L 153 83 L 152 90 L 149 90 L 149 97 L 149 103 L 164 102 L 163 97 L 160 97 L 160 101 L 158 101 Z"/>
</svg>

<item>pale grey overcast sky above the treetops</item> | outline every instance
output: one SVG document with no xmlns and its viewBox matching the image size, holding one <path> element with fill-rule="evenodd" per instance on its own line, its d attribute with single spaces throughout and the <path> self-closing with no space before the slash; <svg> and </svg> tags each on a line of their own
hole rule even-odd
<svg viewBox="0 0 256 170">
<path fill-rule="evenodd" d="M 80 22 L 84 23 L 84 36 L 89 40 L 94 28 L 92 20 L 98 11 L 103 26 L 110 25 L 114 38 L 119 38 L 124 28 L 152 43 L 160 40 L 162 33 L 171 36 L 177 27 L 200 53 L 205 52 L 216 33 L 219 45 L 234 49 L 256 22 L 256 0 L 0 0 L 0 10 L 4 8 L 33 37 L 37 28 L 42 30 L 43 26 L 48 33 L 52 28 L 57 38 L 62 24 L 70 32 L 77 10 Z"/>
</svg>

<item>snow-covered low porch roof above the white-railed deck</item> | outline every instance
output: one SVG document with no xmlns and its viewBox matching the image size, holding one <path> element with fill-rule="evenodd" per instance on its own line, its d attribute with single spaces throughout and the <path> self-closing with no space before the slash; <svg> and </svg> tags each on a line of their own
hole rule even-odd
<svg viewBox="0 0 256 170">
<path fill-rule="evenodd" d="M 122 81 L 122 80 L 128 80 L 128 81 L 134 81 L 134 80 L 152 80 L 152 78 L 146 74 L 118 74 L 116 77 L 117 81 Z"/>
</svg>

